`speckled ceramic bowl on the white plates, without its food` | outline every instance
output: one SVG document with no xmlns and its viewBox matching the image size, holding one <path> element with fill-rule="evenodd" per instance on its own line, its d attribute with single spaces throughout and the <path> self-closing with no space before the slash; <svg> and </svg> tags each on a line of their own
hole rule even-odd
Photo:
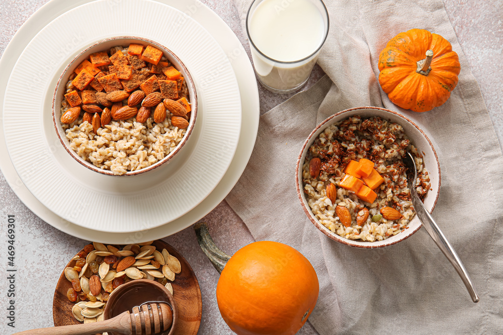
<svg viewBox="0 0 503 335">
<path fill-rule="evenodd" d="M 187 127 L 187 131 L 182 139 L 182 141 L 178 144 L 176 149 L 172 151 L 170 154 L 167 154 L 163 159 L 157 161 L 155 164 L 152 164 L 148 167 L 142 168 L 137 171 L 128 171 L 125 174 L 119 175 L 119 176 L 132 176 L 132 175 L 137 175 L 140 173 L 148 172 L 151 171 L 167 162 L 169 162 L 173 157 L 175 157 L 180 150 L 184 147 L 184 145 L 187 143 L 189 136 L 191 135 L 194 126 L 196 124 L 196 116 L 197 116 L 197 93 L 196 93 L 196 85 L 194 84 L 194 80 L 192 79 L 192 76 L 190 75 L 189 71 L 187 70 L 187 67 L 184 65 L 184 63 L 175 55 L 171 50 L 167 49 L 166 47 L 162 46 L 161 44 L 145 39 L 145 38 L 140 38 L 140 37 L 132 37 L 132 36 L 121 36 L 121 37 L 112 37 L 112 38 L 107 38 L 104 40 L 99 40 L 96 43 L 90 45 L 86 49 L 82 50 L 78 55 L 73 58 L 70 63 L 66 66 L 64 69 L 63 73 L 59 77 L 58 83 L 56 85 L 56 88 L 54 90 L 54 95 L 52 99 L 52 118 L 54 121 L 54 128 L 56 130 L 56 134 L 61 141 L 61 144 L 63 147 L 66 149 L 68 154 L 70 154 L 73 159 L 75 159 L 78 163 L 82 164 L 83 166 L 87 167 L 90 170 L 96 171 L 101 174 L 105 175 L 111 175 L 114 176 L 114 173 L 110 170 L 104 170 L 101 169 L 97 166 L 95 166 L 93 163 L 84 160 L 82 157 L 78 156 L 75 151 L 73 151 L 70 148 L 69 141 L 65 136 L 65 131 L 61 127 L 61 101 L 63 100 L 63 95 L 65 94 L 66 91 L 66 83 L 68 82 L 68 78 L 70 77 L 71 73 L 73 73 L 74 69 L 86 58 L 89 57 L 90 54 L 98 51 L 104 51 L 104 50 L 109 50 L 112 47 L 115 46 L 124 46 L 127 47 L 130 43 L 138 43 L 138 44 L 143 44 L 143 45 L 152 45 L 159 50 L 162 50 L 164 53 L 164 56 L 166 56 L 167 60 L 173 64 L 173 66 L 178 69 L 182 75 L 185 78 L 185 81 L 187 83 L 187 88 L 189 90 L 189 96 L 190 96 L 190 103 L 191 103 L 191 117 L 189 120 L 189 126 Z M 153 116 L 153 107 L 152 107 L 152 116 Z"/>
</svg>

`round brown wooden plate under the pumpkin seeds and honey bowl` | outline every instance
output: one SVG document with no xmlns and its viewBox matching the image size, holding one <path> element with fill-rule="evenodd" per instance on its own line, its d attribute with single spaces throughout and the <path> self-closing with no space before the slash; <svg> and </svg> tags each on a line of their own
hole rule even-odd
<svg viewBox="0 0 503 335">
<path fill-rule="evenodd" d="M 161 240 L 154 241 L 152 245 L 159 251 L 166 249 L 170 255 L 178 258 L 182 265 L 182 272 L 177 274 L 175 281 L 172 282 L 173 296 L 177 303 L 179 315 L 175 335 L 196 335 L 203 311 L 201 290 L 196 275 L 187 260 L 175 248 Z M 71 261 L 66 267 L 73 267 L 74 265 L 75 261 Z M 81 322 L 76 320 L 71 313 L 71 307 L 73 307 L 74 303 L 66 297 L 66 291 L 71 287 L 71 283 L 64 276 L 64 268 L 62 270 L 52 302 L 54 325 L 80 324 Z"/>
</svg>

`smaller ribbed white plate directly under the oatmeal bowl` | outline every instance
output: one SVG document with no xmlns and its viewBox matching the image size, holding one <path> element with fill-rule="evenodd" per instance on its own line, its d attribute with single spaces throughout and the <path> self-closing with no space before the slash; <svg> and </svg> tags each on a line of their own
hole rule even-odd
<svg viewBox="0 0 503 335">
<path fill-rule="evenodd" d="M 150 0 L 122 0 L 113 16 L 93 21 L 96 13 L 107 11 L 109 0 L 81 5 L 33 38 L 8 82 L 4 133 L 18 175 L 47 208 L 89 229 L 136 232 L 182 216 L 216 187 L 237 147 L 241 101 L 223 49 L 192 18 Z M 159 22 L 166 29 L 159 29 Z M 75 33 L 67 27 L 86 29 Z M 189 142 L 168 164 L 136 176 L 107 176 L 78 164 L 58 143 L 52 95 L 61 72 L 82 49 L 128 35 L 151 39 L 182 59 L 196 84 L 198 118 Z"/>
</svg>

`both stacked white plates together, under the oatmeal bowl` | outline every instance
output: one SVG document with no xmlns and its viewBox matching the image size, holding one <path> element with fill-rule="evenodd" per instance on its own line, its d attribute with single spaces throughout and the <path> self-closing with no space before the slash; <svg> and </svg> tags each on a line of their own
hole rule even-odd
<svg viewBox="0 0 503 335">
<path fill-rule="evenodd" d="M 63 68 L 88 45 L 112 36 L 144 37 L 170 48 L 198 92 L 189 142 L 169 164 L 138 176 L 106 176 L 81 166 L 63 149 L 52 123 L 52 95 Z M 28 208 L 82 239 L 143 242 L 192 225 L 232 189 L 255 144 L 253 68 L 230 28 L 197 0 L 52 0 L 16 33 L 0 72 L 0 156 L 9 157 L 0 168 Z"/>
</svg>

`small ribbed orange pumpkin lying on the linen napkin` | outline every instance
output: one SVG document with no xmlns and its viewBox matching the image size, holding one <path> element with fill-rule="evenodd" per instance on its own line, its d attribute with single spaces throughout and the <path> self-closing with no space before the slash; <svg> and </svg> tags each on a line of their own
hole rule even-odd
<svg viewBox="0 0 503 335">
<path fill-rule="evenodd" d="M 379 83 L 394 104 L 428 111 L 451 96 L 460 64 L 449 41 L 424 29 L 411 29 L 388 42 L 379 55 L 379 71 Z"/>
</svg>

